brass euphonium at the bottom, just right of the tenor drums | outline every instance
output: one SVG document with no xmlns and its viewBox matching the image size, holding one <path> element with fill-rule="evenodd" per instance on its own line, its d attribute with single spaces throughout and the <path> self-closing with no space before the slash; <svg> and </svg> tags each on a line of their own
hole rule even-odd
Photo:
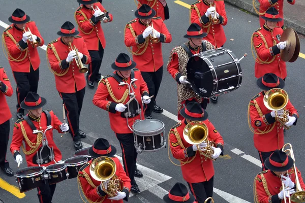
<svg viewBox="0 0 305 203">
<path fill-rule="evenodd" d="M 121 190 L 121 184 L 116 178 L 115 172 L 116 164 L 107 156 L 100 156 L 90 164 L 90 175 L 93 179 L 101 182 L 109 181 L 107 190 L 104 184 L 102 187 L 103 191 L 110 197 L 116 196 L 116 191 Z"/>
</svg>

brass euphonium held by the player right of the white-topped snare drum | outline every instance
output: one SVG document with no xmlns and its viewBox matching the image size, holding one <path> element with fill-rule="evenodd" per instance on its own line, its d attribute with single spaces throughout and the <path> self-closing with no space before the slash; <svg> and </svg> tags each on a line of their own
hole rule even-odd
<svg viewBox="0 0 305 203">
<path fill-rule="evenodd" d="M 211 147 L 215 147 L 216 144 L 207 139 L 208 128 L 202 121 L 189 122 L 183 130 L 183 137 L 187 143 L 197 145 L 197 149 L 201 155 L 215 161 L 215 159 L 212 158 L 214 150 Z M 207 147 L 205 147 L 205 151 L 201 151 L 199 144 L 204 141 L 206 142 Z"/>
</svg>

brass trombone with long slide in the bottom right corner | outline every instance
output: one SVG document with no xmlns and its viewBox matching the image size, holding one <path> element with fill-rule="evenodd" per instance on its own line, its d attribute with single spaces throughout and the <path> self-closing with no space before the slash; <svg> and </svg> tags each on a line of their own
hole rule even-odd
<svg viewBox="0 0 305 203">
<path fill-rule="evenodd" d="M 289 146 L 289 149 L 285 150 L 285 147 Z M 290 155 L 291 158 L 293 159 L 293 174 L 295 178 L 295 193 L 290 195 L 289 202 L 294 201 L 294 202 L 304 202 L 305 201 L 305 191 L 302 189 L 300 181 L 297 176 L 297 171 L 295 167 L 295 158 L 292 150 L 292 146 L 290 143 L 287 143 L 283 146 L 282 151 L 286 152 L 287 155 Z M 282 180 L 282 187 L 284 189 L 284 181 Z M 286 198 L 284 198 L 284 202 L 286 203 Z M 290 200 L 291 199 L 291 200 Z"/>
</svg>

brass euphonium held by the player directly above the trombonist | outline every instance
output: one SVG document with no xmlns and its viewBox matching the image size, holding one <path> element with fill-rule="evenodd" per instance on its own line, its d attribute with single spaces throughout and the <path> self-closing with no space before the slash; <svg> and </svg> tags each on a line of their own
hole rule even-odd
<svg viewBox="0 0 305 203">
<path fill-rule="evenodd" d="M 273 88 L 265 93 L 264 96 L 264 105 L 267 109 L 271 111 L 276 111 L 276 120 L 281 123 L 285 129 L 290 127 L 286 126 L 285 123 L 288 122 L 289 111 L 285 110 L 286 105 L 288 104 L 288 94 L 284 89 Z M 284 109 L 284 114 L 278 116 L 277 111 Z"/>
</svg>

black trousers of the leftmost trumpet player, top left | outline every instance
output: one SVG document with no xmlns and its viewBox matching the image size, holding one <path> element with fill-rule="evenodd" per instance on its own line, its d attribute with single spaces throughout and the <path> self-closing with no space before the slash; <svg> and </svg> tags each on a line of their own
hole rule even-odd
<svg viewBox="0 0 305 203">
<path fill-rule="evenodd" d="M 24 109 L 20 108 L 20 103 L 24 100 L 27 92 L 37 93 L 38 81 L 39 81 L 39 68 L 34 71 L 32 65 L 29 73 L 14 72 L 14 78 L 17 84 L 16 95 L 17 95 L 17 112 L 24 113 Z"/>
</svg>

